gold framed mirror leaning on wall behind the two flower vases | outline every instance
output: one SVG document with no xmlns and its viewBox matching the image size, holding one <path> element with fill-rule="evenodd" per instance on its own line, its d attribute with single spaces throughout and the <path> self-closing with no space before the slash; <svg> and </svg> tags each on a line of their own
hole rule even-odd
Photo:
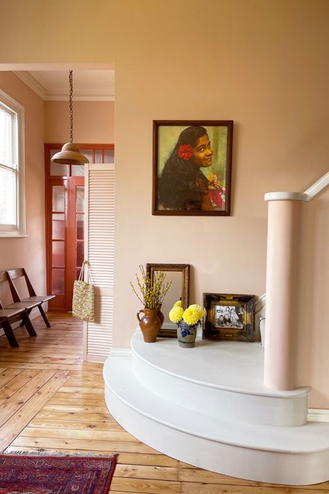
<svg viewBox="0 0 329 494">
<path fill-rule="evenodd" d="M 189 267 L 189 264 L 146 264 L 146 274 L 149 274 L 152 283 L 154 273 L 157 271 L 164 271 L 166 281 L 171 281 L 171 287 L 161 307 L 165 320 L 158 334 L 160 337 L 177 338 L 177 327 L 169 320 L 169 311 L 177 300 L 182 301 L 183 307 L 189 306 Z"/>
</svg>

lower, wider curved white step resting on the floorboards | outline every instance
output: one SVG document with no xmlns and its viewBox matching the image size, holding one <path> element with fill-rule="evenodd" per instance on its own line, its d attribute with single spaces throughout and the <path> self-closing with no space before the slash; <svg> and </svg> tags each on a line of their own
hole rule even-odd
<svg viewBox="0 0 329 494">
<path fill-rule="evenodd" d="M 212 418 L 144 388 L 127 356 L 110 356 L 103 375 L 110 413 L 130 434 L 162 453 L 255 481 L 304 485 L 329 479 L 328 422 L 269 427 Z"/>
</svg>

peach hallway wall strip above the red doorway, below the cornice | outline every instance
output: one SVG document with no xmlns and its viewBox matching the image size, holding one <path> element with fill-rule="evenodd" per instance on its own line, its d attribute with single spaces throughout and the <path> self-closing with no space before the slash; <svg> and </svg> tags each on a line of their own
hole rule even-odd
<svg viewBox="0 0 329 494">
<path fill-rule="evenodd" d="M 45 142 L 69 140 L 69 102 L 46 101 Z M 73 101 L 74 142 L 113 144 L 115 139 L 114 101 Z"/>
</svg>

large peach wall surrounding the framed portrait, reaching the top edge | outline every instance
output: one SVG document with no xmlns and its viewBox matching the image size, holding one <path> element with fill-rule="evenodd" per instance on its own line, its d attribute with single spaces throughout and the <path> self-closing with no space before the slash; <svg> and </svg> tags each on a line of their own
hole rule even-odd
<svg viewBox="0 0 329 494">
<path fill-rule="evenodd" d="M 303 191 L 328 171 L 328 1 L 112 0 L 95 9 L 87 0 L 11 0 L 1 8 L 17 29 L 3 26 L 0 63 L 115 63 L 115 347 L 128 347 L 135 331 L 140 306 L 129 280 L 140 263 L 190 263 L 193 302 L 205 291 L 262 295 L 264 192 Z M 83 36 L 72 37 L 63 22 L 72 18 L 87 27 Z M 234 120 L 230 217 L 151 215 L 152 120 L 161 119 Z M 305 374 L 316 388 L 311 406 L 329 408 L 328 348 L 317 347 Z"/>
</svg>

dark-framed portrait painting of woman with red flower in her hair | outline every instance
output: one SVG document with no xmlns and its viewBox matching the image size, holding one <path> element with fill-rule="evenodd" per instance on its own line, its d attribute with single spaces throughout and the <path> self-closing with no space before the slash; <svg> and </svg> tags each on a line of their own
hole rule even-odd
<svg viewBox="0 0 329 494">
<path fill-rule="evenodd" d="M 230 215 L 232 120 L 153 121 L 153 215 Z"/>
</svg>

